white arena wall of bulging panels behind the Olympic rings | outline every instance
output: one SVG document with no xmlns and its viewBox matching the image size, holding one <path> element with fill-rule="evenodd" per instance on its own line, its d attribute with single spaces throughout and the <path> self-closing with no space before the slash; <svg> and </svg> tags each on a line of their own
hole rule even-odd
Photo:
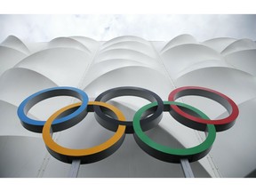
<svg viewBox="0 0 256 192">
<path fill-rule="evenodd" d="M 139 36 L 120 36 L 107 42 L 84 36 L 58 37 L 46 43 L 22 42 L 8 36 L 0 44 L 0 177 L 68 177 L 71 164 L 54 158 L 44 144 L 42 133 L 30 132 L 20 124 L 20 103 L 35 92 L 68 86 L 86 92 L 95 100 L 102 92 L 133 86 L 155 92 L 168 100 L 173 90 L 200 86 L 227 95 L 236 102 L 239 116 L 225 132 L 217 132 L 207 156 L 190 163 L 195 177 L 254 177 L 256 168 L 256 44 L 251 39 L 229 37 L 197 42 L 181 35 L 169 42 L 148 41 Z M 29 110 L 33 119 L 46 120 L 76 99 L 52 97 Z M 218 102 L 199 96 L 178 101 L 199 108 L 211 119 L 228 116 Z M 108 101 L 126 119 L 148 100 L 117 97 Z M 92 148 L 115 132 L 103 128 L 93 113 L 73 127 L 54 132 L 53 140 L 66 148 Z M 148 137 L 172 148 L 191 148 L 204 142 L 204 132 L 178 123 L 164 113 Z M 158 160 L 145 153 L 132 134 L 111 156 L 81 164 L 81 178 L 184 177 L 180 164 Z"/>
</svg>

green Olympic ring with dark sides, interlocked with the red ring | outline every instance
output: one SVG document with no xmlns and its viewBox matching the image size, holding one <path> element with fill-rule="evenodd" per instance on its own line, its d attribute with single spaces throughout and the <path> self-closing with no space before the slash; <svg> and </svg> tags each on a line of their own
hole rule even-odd
<svg viewBox="0 0 256 192">
<path fill-rule="evenodd" d="M 180 106 L 183 108 L 188 108 L 204 119 L 210 119 L 206 116 L 202 111 L 197 108 L 193 108 L 184 103 L 176 102 L 176 101 L 164 101 L 164 111 L 172 110 L 171 105 Z M 213 124 L 207 124 L 207 129 L 205 126 L 205 131 L 208 131 L 208 135 L 203 143 L 199 144 L 193 148 L 170 148 L 155 141 L 151 140 L 141 129 L 140 126 L 140 117 L 142 114 L 149 110 L 150 108 L 154 108 L 157 106 L 156 102 L 152 102 L 142 108 L 140 108 L 133 118 L 133 127 L 134 127 L 134 139 L 139 144 L 140 148 L 146 151 L 150 156 L 154 156 L 162 161 L 172 162 L 172 163 L 180 163 L 181 158 L 187 158 L 189 162 L 193 162 L 199 160 L 200 158 L 206 156 L 210 149 L 212 148 L 212 144 L 216 138 L 216 130 Z M 170 108 L 165 108 L 165 107 Z"/>
</svg>

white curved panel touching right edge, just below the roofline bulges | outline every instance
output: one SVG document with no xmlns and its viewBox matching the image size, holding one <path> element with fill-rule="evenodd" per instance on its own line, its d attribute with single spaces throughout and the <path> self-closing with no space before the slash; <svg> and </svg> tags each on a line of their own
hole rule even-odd
<svg viewBox="0 0 256 192">
<path fill-rule="evenodd" d="M 233 52 L 228 54 L 225 59 L 234 68 L 256 76 L 256 49 Z"/>
</svg>

